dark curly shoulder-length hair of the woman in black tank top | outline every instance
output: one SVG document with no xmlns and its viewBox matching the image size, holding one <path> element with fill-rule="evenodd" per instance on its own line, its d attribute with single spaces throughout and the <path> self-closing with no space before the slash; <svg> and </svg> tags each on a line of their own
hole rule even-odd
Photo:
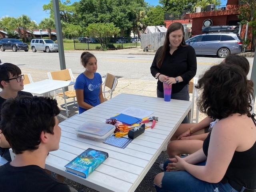
<svg viewBox="0 0 256 192">
<path fill-rule="evenodd" d="M 219 64 L 212 66 L 198 80 L 202 89 L 197 101 L 199 110 L 212 118 L 226 118 L 234 113 L 250 116 L 252 87 L 246 73 L 239 66 Z"/>
</svg>

